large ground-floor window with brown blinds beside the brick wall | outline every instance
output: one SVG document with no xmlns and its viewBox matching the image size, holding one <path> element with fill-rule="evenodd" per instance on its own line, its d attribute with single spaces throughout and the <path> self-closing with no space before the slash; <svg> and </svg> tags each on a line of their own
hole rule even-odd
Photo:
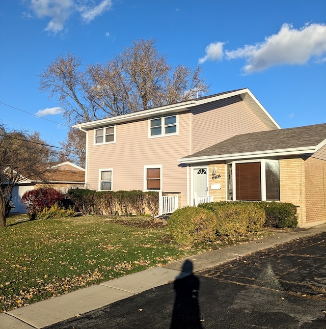
<svg viewBox="0 0 326 329">
<path fill-rule="evenodd" d="M 227 173 L 228 200 L 280 200 L 278 160 L 230 163 Z"/>
</svg>

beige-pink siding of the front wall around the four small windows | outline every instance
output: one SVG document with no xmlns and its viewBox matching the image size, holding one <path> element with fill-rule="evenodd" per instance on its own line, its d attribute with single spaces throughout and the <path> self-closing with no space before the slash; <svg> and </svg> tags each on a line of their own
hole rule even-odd
<svg viewBox="0 0 326 329">
<path fill-rule="evenodd" d="M 162 166 L 162 190 L 181 193 L 186 204 L 186 168 L 177 159 L 188 154 L 189 114 L 179 114 L 178 135 L 148 138 L 148 120 L 116 126 L 116 143 L 93 145 L 89 133 L 87 188 L 98 189 L 99 169 L 113 169 L 113 190 L 144 188 L 144 166 Z"/>
</svg>

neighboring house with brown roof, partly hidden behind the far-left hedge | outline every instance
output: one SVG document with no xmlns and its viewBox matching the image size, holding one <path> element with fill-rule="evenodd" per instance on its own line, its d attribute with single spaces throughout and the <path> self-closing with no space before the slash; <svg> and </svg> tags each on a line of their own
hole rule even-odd
<svg viewBox="0 0 326 329">
<path fill-rule="evenodd" d="M 33 179 L 31 177 L 21 177 L 19 182 L 13 188 L 12 201 L 14 202 L 14 212 L 27 212 L 21 197 L 26 191 L 41 188 L 53 187 L 62 193 L 67 193 L 69 188 L 84 188 L 85 169 L 67 161 L 51 166 L 45 173 L 45 181 Z"/>
</svg>

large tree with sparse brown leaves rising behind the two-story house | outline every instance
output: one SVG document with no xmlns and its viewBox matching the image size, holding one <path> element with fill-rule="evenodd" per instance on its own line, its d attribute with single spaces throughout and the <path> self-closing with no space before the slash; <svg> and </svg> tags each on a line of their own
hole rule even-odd
<svg viewBox="0 0 326 329">
<path fill-rule="evenodd" d="M 83 67 L 82 60 L 68 52 L 39 77 L 40 90 L 58 97 L 72 125 L 201 96 L 208 92 L 201 73 L 200 67 L 172 68 L 154 40 L 142 39 L 105 64 Z"/>
</svg>

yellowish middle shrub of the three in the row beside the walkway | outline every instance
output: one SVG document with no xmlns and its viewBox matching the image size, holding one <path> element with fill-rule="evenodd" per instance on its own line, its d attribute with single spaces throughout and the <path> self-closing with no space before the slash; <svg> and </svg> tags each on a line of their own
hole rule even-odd
<svg viewBox="0 0 326 329">
<path fill-rule="evenodd" d="M 261 230 L 265 222 L 264 210 L 251 202 L 210 202 L 199 207 L 215 213 L 216 230 L 220 235 L 246 235 Z"/>
</svg>

